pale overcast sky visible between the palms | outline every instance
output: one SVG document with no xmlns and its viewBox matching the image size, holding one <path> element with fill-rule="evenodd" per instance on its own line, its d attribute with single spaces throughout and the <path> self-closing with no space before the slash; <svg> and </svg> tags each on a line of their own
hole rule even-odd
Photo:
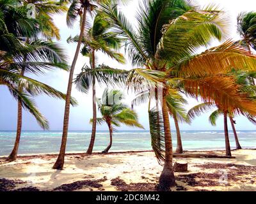
<svg viewBox="0 0 256 204">
<path fill-rule="evenodd" d="M 230 24 L 232 25 L 232 29 L 230 31 L 230 38 L 234 40 L 238 40 L 239 36 L 236 33 L 236 17 L 241 11 L 252 11 L 256 10 L 256 1 L 255 0 L 197 0 L 199 4 L 207 5 L 210 3 L 215 3 L 223 10 L 227 11 L 230 16 Z M 129 3 L 128 6 L 122 8 L 125 15 L 131 20 L 131 22 L 135 22 L 135 14 L 138 9 L 138 1 L 134 0 Z M 65 52 L 68 56 L 68 62 L 71 64 L 72 57 L 76 50 L 76 45 L 68 44 L 66 42 L 67 38 L 71 36 L 75 36 L 79 33 L 79 26 L 76 24 L 73 29 L 68 29 L 65 24 L 65 15 L 56 15 L 54 16 L 54 21 L 56 25 L 60 27 L 61 32 L 61 45 L 65 48 Z M 218 45 L 218 42 L 212 43 L 213 46 Z M 106 55 L 97 54 L 99 64 L 108 64 L 113 68 L 125 68 L 131 69 L 132 66 L 127 60 L 127 64 L 120 65 L 115 61 L 112 61 Z M 88 63 L 88 59 L 85 57 L 79 56 L 76 65 L 75 75 L 77 75 L 84 63 Z M 52 87 L 58 89 L 59 91 L 66 92 L 67 91 L 67 82 L 68 82 L 68 73 L 64 71 L 56 70 L 47 73 L 45 76 L 35 77 L 37 80 L 40 79 L 41 82 L 51 85 Z M 97 87 L 97 97 L 100 97 L 104 87 Z M 81 94 L 76 91 L 76 88 L 73 87 L 72 96 L 74 96 L 77 101 L 79 101 L 79 106 L 71 108 L 70 111 L 70 130 L 90 130 L 91 125 L 89 124 L 89 120 L 92 117 L 92 93 L 89 94 Z M 129 104 L 132 96 L 127 96 L 126 102 Z M 35 98 L 36 104 L 40 111 L 45 115 L 45 117 L 49 120 L 51 130 L 61 130 L 63 126 L 63 112 L 65 102 L 59 99 L 52 99 L 47 96 L 38 96 Z M 186 108 L 191 108 L 197 104 L 195 99 L 189 99 L 189 105 Z M 147 105 L 137 106 L 135 110 L 138 112 L 140 117 L 140 122 L 143 124 L 145 129 L 148 129 L 148 113 L 147 113 Z M 180 129 L 182 130 L 222 130 L 223 129 L 223 119 L 218 120 L 218 125 L 216 127 L 212 127 L 208 122 L 209 113 L 202 115 L 202 117 L 198 117 L 193 121 L 193 123 L 189 126 L 188 124 L 180 124 Z M 17 101 L 12 98 L 6 87 L 0 86 L 0 131 L 2 130 L 15 130 L 17 124 Z M 255 126 L 248 122 L 244 117 L 237 117 L 237 129 L 240 130 L 250 130 L 255 129 Z M 172 129 L 174 127 L 172 121 Z M 29 114 L 24 112 L 23 117 L 23 130 L 40 130 L 40 127 L 36 123 L 35 119 Z M 106 126 L 98 126 L 98 130 L 106 130 Z M 131 128 L 127 128 L 123 126 L 119 128 L 120 130 L 128 130 Z"/>
</svg>

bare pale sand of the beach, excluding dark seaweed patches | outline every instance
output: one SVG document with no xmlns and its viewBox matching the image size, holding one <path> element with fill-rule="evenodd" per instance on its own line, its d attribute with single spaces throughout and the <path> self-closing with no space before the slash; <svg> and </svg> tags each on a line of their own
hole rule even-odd
<svg viewBox="0 0 256 204">
<path fill-rule="evenodd" d="M 223 151 L 216 152 L 224 154 Z M 218 173 L 220 176 L 211 178 L 199 178 L 200 184 L 189 185 L 184 180 L 177 180 L 179 186 L 186 187 L 188 191 L 217 190 L 217 191 L 256 191 L 256 168 L 245 170 L 236 166 L 228 168 L 204 168 L 196 167 L 198 164 L 242 164 L 246 166 L 256 165 L 256 150 L 236 150 L 232 152 L 236 159 L 207 159 L 189 158 L 173 160 L 188 161 L 189 171 L 186 173 L 175 173 L 175 177 L 189 175 L 191 173 Z M 78 180 L 97 180 L 106 177 L 107 180 L 100 182 L 102 188 L 84 186 L 77 191 L 116 191 L 116 187 L 111 185 L 111 179 L 120 177 L 127 184 L 130 183 L 157 183 L 161 170 L 153 152 L 139 153 L 115 153 L 115 154 L 94 154 L 93 156 L 83 156 L 81 154 L 68 155 L 65 157 L 64 170 L 52 170 L 52 165 L 56 156 L 26 156 L 18 157 L 17 161 L 6 163 L 0 159 L 0 178 L 20 179 L 26 184 L 17 184 L 17 188 L 33 186 L 40 190 L 52 190 L 62 184 L 69 184 Z M 243 171 L 241 173 L 241 171 Z M 237 173 L 238 172 L 238 173 Z M 239 173 L 240 172 L 240 173 Z M 225 177 L 227 175 L 227 178 Z M 230 178 L 228 178 L 230 175 Z M 232 179 L 236 175 L 236 180 Z M 233 177 L 232 177 L 233 176 Z M 228 179 L 225 183 L 219 184 L 219 178 Z M 202 181 L 206 179 L 206 183 Z M 198 178 L 195 178 L 198 181 Z M 209 186 L 209 180 L 218 182 L 219 185 Z M 254 182 L 255 181 L 255 182 Z M 173 188 L 176 190 L 177 188 Z"/>
</svg>

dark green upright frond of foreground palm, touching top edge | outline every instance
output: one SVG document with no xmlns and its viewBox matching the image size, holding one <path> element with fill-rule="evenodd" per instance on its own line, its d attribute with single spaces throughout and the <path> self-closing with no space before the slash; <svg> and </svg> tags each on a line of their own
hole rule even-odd
<svg viewBox="0 0 256 204">
<path fill-rule="evenodd" d="M 163 36 L 163 26 L 191 9 L 192 6 L 184 0 L 143 0 L 140 3 L 137 15 L 140 40 L 148 56 L 154 58 Z"/>
</svg>

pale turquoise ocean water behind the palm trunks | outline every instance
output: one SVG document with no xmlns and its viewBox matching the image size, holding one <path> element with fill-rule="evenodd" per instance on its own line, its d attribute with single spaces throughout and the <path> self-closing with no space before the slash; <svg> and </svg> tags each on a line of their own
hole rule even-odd
<svg viewBox="0 0 256 204">
<path fill-rule="evenodd" d="M 182 131 L 184 150 L 225 149 L 223 131 Z M 241 146 L 256 148 L 256 131 L 237 131 Z M 60 149 L 61 131 L 23 131 L 19 154 L 55 153 Z M 90 142 L 90 131 L 70 131 L 67 152 L 85 152 Z M 172 132 L 176 147 L 176 133 Z M 0 156 L 10 154 L 15 142 L 15 131 L 0 131 Z M 109 142 L 108 131 L 98 131 L 94 151 L 104 150 Z M 236 147 L 234 135 L 230 132 L 230 145 Z M 111 150 L 151 150 L 149 131 L 118 131 L 113 134 Z"/>
</svg>

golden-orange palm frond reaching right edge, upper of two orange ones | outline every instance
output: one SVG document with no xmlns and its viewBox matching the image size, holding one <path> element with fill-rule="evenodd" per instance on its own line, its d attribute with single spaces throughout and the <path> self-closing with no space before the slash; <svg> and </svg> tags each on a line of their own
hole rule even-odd
<svg viewBox="0 0 256 204">
<path fill-rule="evenodd" d="M 246 71 L 256 70 L 256 56 L 233 41 L 226 41 L 202 54 L 180 61 L 175 68 L 179 77 L 205 77 L 216 73 L 227 73 L 231 68 Z"/>
</svg>

